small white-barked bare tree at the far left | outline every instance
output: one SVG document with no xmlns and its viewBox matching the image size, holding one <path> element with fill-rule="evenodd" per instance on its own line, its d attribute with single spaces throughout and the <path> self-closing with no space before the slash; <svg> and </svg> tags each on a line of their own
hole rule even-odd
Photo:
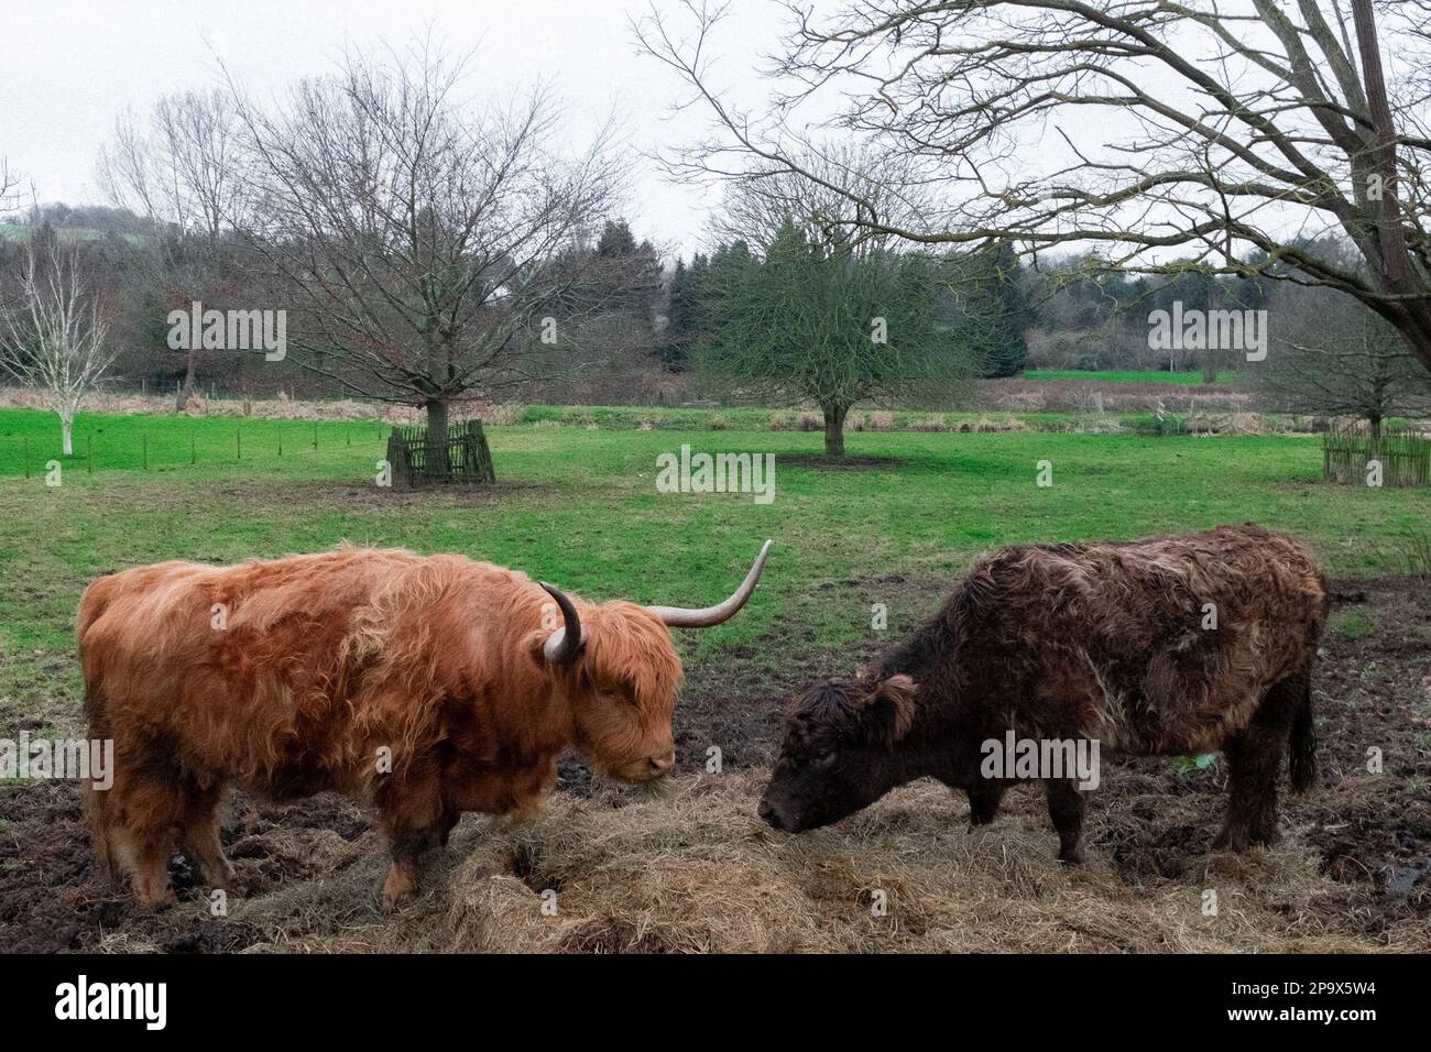
<svg viewBox="0 0 1431 1052">
<path fill-rule="evenodd" d="M 49 394 L 64 455 L 72 457 L 74 417 L 117 351 L 104 344 L 107 326 L 77 243 L 37 230 L 17 263 L 19 295 L 0 322 L 0 368 Z"/>
</svg>

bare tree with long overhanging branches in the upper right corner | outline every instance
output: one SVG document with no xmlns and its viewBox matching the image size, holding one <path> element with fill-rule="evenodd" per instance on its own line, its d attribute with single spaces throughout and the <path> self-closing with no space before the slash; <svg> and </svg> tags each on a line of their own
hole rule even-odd
<svg viewBox="0 0 1431 1052">
<path fill-rule="evenodd" d="M 1093 245 L 1120 269 L 1338 289 L 1431 368 L 1424 0 L 787 7 L 773 72 L 781 87 L 754 116 L 711 84 L 724 9 L 685 0 L 680 17 L 637 23 L 644 49 L 716 117 L 711 139 L 668 159 L 674 170 L 721 175 L 733 155 L 753 155 L 847 196 L 856 222 L 912 240 Z M 839 127 L 940 180 L 939 229 L 906 229 L 857 186 L 801 162 L 810 143 L 790 116 L 821 99 L 839 106 Z M 1354 243 L 1364 266 L 1299 250 L 1328 232 Z M 1189 250 L 1191 262 L 1166 262 Z"/>
</svg>

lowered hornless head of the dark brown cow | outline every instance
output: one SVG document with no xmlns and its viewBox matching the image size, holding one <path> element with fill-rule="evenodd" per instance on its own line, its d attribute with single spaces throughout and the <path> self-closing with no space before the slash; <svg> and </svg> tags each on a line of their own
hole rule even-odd
<svg viewBox="0 0 1431 1052">
<path fill-rule="evenodd" d="M 896 746 L 914 720 L 914 681 L 827 680 L 786 716 L 760 817 L 801 833 L 854 814 L 897 783 Z"/>
</svg>

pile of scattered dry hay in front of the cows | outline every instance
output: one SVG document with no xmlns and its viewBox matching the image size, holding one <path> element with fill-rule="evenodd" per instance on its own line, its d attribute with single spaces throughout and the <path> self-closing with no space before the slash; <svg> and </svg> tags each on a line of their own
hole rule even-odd
<svg viewBox="0 0 1431 1052">
<path fill-rule="evenodd" d="M 1130 880 L 1102 846 L 1119 840 L 1116 827 L 1088 865 L 1058 863 L 1030 790 L 1010 793 L 1006 814 L 972 832 L 963 800 L 922 781 L 834 829 L 786 836 L 756 817 L 764 777 L 683 777 L 660 796 L 558 793 L 524 826 L 469 816 L 434 860 L 426 893 L 391 919 L 376 912 L 386 867 L 376 837 L 335 843 L 325 879 L 236 902 L 229 923 L 263 933 L 249 952 L 1368 949 L 1324 900 L 1317 853 L 1296 832 L 1244 856 L 1193 843 L 1168 870 L 1176 876 Z M 1168 839 L 1189 839 L 1179 830 Z M 1206 890 L 1218 895 L 1216 916 L 1203 915 Z M 1387 930 L 1385 946 L 1424 952 L 1431 933 L 1411 917 Z M 132 936 L 104 948 L 159 949 Z"/>
</svg>

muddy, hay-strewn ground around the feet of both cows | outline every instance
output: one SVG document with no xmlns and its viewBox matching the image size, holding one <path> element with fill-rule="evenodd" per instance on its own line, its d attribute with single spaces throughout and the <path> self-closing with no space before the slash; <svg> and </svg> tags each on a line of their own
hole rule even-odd
<svg viewBox="0 0 1431 1052">
<path fill-rule="evenodd" d="M 932 610 L 944 587 L 943 581 L 899 577 L 827 581 L 811 585 L 809 598 L 859 600 L 873 591 L 884 598 L 893 591 L 916 608 Z M 754 653 L 737 653 L 720 668 L 691 670 L 677 711 L 678 803 L 663 804 L 660 797 L 594 781 L 570 759 L 558 787 L 564 796 L 554 802 L 551 822 L 558 824 L 541 820 L 514 834 L 481 816 L 465 817 L 455 846 L 436 866 L 441 879 L 396 919 L 378 912 L 384 852 L 369 814 L 339 797 L 269 806 L 235 794 L 223 843 L 246 895 L 229 916 L 212 917 L 180 856 L 172 862 L 180 897 L 173 909 L 146 912 L 127 895 L 96 886 L 73 784 L 4 786 L 0 950 L 1431 949 L 1431 587 L 1425 581 L 1335 584 L 1332 630 L 1315 684 L 1318 784 L 1304 797 L 1284 799 L 1282 844 L 1252 853 L 1266 859 L 1218 862 L 1213 856 L 1209 862 L 1226 790 L 1221 761 L 1179 773 L 1166 759 L 1105 757 L 1103 784 L 1089 812 L 1086 877 L 1049 862 L 1056 839 L 1029 790 L 1010 794 L 1007 813 L 995 826 L 959 840 L 947 837 L 967 823 L 963 797 L 927 787 L 899 790 L 864 816 L 801 837 L 798 844 L 750 820 L 744 812 L 753 809 L 758 769 L 770 763 L 777 746 L 784 698 L 814 676 L 850 671 L 877 646 L 821 654 L 813 640 L 770 643 L 794 656 L 783 658 L 777 673 Z M 14 714 L 7 719 L 0 711 L 3 736 L 20 730 L 14 721 Z M 721 750 L 727 774 L 703 771 L 713 744 Z M 1368 750 L 1379 750 L 1381 773 L 1368 770 Z M 724 786 L 713 787 L 723 777 Z M 683 836 L 685 826 L 701 824 L 703 809 L 717 807 L 726 809 L 720 830 L 713 824 Z M 614 859 L 590 853 L 595 847 L 562 843 L 564 837 L 581 840 L 572 830 L 590 839 L 592 829 L 612 840 L 625 837 L 637 870 L 644 867 L 641 853 L 650 852 L 650 872 L 664 875 L 650 902 L 637 902 L 650 889 L 637 889 L 630 877 L 614 886 L 601 883 L 598 870 L 611 876 Z M 1020 852 L 1027 853 L 1026 862 Z M 871 877 L 861 867 L 880 869 L 879 859 L 900 853 L 919 865 L 947 862 L 934 869 L 936 876 L 947 870 L 949 883 L 930 883 L 924 870 L 902 870 L 890 862 L 879 879 L 904 887 L 906 920 L 866 930 L 870 923 L 861 903 Z M 730 913 L 734 905 L 711 893 L 714 905 L 703 913 L 704 907 L 691 905 L 701 900 L 701 889 L 687 886 L 700 883 L 707 863 L 708 872 L 718 873 L 723 857 L 730 865 L 738 859 L 778 870 L 771 879 L 791 882 L 788 893 L 800 897 L 801 909 L 823 919 L 811 922 L 809 937 L 790 936 L 793 942 L 771 942 L 776 936 L 764 927 L 724 929 L 721 910 Z M 969 872 L 960 873 L 962 866 Z M 1146 937 L 1126 930 L 1158 923 L 1145 922 L 1136 909 L 1155 905 L 1149 916 L 1156 917 L 1168 913 L 1168 902 L 1191 897 L 1195 903 L 1198 889 L 1213 880 L 1209 873 L 1225 889 L 1226 902 L 1238 909 L 1245 902 L 1255 913 L 1251 927 L 1234 929 L 1229 922 L 1236 936 L 1221 942 L 1192 932 L 1196 917 Z M 758 873 L 743 876 L 747 885 L 754 879 Z M 670 897 L 677 880 L 685 882 L 685 897 L 670 916 L 685 919 L 667 923 L 661 896 Z M 538 913 L 522 906 L 522 896 L 535 902 L 544 886 L 570 887 L 581 903 L 580 916 L 567 922 L 560 937 L 521 942 L 491 930 L 497 923 L 492 896 L 508 896 L 515 909 L 527 910 L 524 917 L 535 919 Z M 622 887 L 633 889 L 628 903 L 621 902 Z M 325 897 L 325 889 L 335 895 Z M 1065 896 L 1065 889 L 1072 890 Z M 977 896 L 977 907 L 973 897 L 953 902 L 966 892 Z M 977 942 L 960 940 L 953 930 L 977 926 L 980 917 L 1019 916 L 1039 896 L 1040 922 L 1062 910 L 1047 929 L 1030 933 L 1025 926 L 1017 937 L 1005 939 L 989 920 L 992 927 L 977 932 Z M 966 905 L 967 916 L 959 912 Z M 504 909 L 509 916 L 514 907 Z M 1195 905 L 1189 909 L 1196 913 Z M 478 915 L 481 923 L 472 919 Z M 923 919 L 916 923 L 910 916 Z M 936 916 L 944 917 L 943 932 L 934 930 Z M 1115 923 L 1115 916 L 1123 920 Z M 474 925 L 481 929 L 475 935 Z M 394 943 L 395 926 L 429 933 Z"/>
</svg>

